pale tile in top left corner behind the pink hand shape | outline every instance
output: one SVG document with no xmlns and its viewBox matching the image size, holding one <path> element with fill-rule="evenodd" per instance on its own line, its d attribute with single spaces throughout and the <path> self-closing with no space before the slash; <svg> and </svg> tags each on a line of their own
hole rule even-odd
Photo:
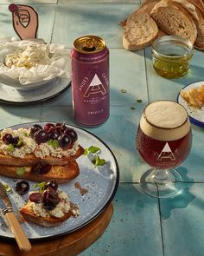
<svg viewBox="0 0 204 256">
<path fill-rule="evenodd" d="M 54 15 L 56 10 L 56 5 L 54 4 L 30 4 L 33 6 L 39 15 L 39 28 L 37 37 L 43 38 L 45 42 L 50 43 L 52 30 L 54 25 Z M 12 25 L 12 14 L 8 10 L 9 4 L 2 4 L 1 5 L 1 15 L 0 15 L 0 36 L 15 36 L 15 30 L 13 29 Z"/>
</svg>

